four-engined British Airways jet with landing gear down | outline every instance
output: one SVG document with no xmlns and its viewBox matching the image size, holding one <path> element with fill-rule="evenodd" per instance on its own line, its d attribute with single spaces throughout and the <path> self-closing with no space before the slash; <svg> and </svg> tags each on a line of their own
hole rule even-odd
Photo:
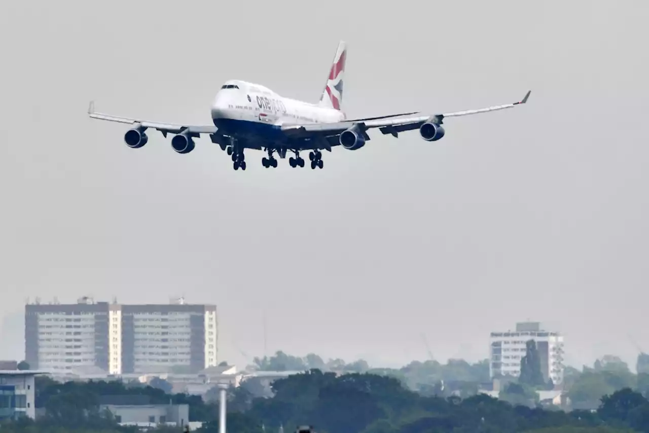
<svg viewBox="0 0 649 433">
<path fill-rule="evenodd" d="M 520 102 L 496 105 L 484 109 L 449 112 L 445 114 L 422 114 L 406 112 L 387 116 L 347 119 L 342 110 L 343 79 L 347 45 L 340 42 L 324 90 L 318 103 L 308 103 L 284 98 L 262 85 L 246 81 L 227 81 L 217 92 L 212 103 L 214 125 L 185 125 L 150 122 L 148 120 L 112 116 L 94 111 L 90 103 L 91 118 L 130 124 L 124 141 L 130 148 L 138 149 L 147 144 L 147 129 L 157 129 L 171 138 L 171 147 L 178 153 L 194 150 L 194 138 L 207 134 L 212 142 L 232 155 L 234 170 L 245 170 L 245 149 L 263 150 L 264 167 L 276 167 L 275 153 L 281 159 L 291 151 L 291 167 L 304 167 L 300 152 L 308 151 L 311 168 L 323 168 L 321 150 L 343 146 L 347 150 L 358 150 L 370 139 L 367 131 L 378 128 L 384 134 L 398 137 L 398 133 L 419 129 L 419 135 L 426 141 L 437 141 L 444 137 L 443 120 L 447 117 L 465 116 L 479 112 L 496 111 L 524 104 L 530 92 Z"/>
</svg>

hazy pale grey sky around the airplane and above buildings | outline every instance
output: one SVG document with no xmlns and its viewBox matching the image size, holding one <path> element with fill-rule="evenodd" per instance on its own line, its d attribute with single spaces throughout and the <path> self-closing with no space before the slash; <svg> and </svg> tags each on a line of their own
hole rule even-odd
<svg viewBox="0 0 649 433">
<path fill-rule="evenodd" d="M 218 305 L 221 359 L 487 356 L 545 321 L 570 363 L 649 350 L 649 3 L 14 1 L 0 7 L 0 356 L 27 296 Z M 307 6 L 308 5 L 308 6 Z M 223 81 L 316 101 L 349 43 L 350 116 L 528 105 L 232 170 L 140 150 L 99 111 L 211 124 Z M 11 342 L 10 344 L 6 344 Z"/>
</svg>

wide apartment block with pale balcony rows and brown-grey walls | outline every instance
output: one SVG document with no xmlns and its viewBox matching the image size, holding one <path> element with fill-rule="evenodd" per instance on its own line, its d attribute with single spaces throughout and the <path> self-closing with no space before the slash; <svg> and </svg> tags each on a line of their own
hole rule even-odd
<svg viewBox="0 0 649 433">
<path fill-rule="evenodd" d="M 77 304 L 25 306 L 25 360 L 32 369 L 99 367 L 110 374 L 197 372 L 217 365 L 216 306 Z"/>
</svg>

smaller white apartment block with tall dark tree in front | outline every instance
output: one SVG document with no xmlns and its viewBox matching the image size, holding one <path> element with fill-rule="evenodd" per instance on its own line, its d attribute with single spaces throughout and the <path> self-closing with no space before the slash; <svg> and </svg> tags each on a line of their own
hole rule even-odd
<svg viewBox="0 0 649 433">
<path fill-rule="evenodd" d="M 520 360 L 525 356 L 526 343 L 534 340 L 541 358 L 541 373 L 545 380 L 563 383 L 563 335 L 541 329 L 539 322 L 519 322 L 515 331 L 492 332 L 490 338 L 489 374 L 520 376 Z"/>
</svg>

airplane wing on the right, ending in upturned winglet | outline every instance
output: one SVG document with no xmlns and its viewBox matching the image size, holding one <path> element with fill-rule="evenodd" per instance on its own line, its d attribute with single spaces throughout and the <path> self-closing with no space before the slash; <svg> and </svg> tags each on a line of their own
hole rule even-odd
<svg viewBox="0 0 649 433">
<path fill-rule="evenodd" d="M 341 134 L 343 131 L 349 129 L 354 125 L 359 125 L 362 129 L 379 128 L 384 134 L 392 134 L 397 137 L 398 133 L 402 131 L 410 131 L 411 129 L 418 129 L 422 124 L 434 122 L 441 125 L 443 119 L 446 117 L 467 116 L 468 114 L 478 114 L 481 112 L 504 110 L 516 107 L 517 105 L 524 104 L 530 98 L 530 90 L 525 97 L 514 103 L 504 105 L 494 105 L 493 107 L 486 107 L 482 109 L 448 112 L 443 114 L 426 114 L 412 117 L 402 118 L 376 118 L 376 120 L 350 120 L 346 122 L 338 122 L 335 124 L 289 124 L 283 125 L 282 130 L 292 137 L 308 137 L 311 135 L 320 135 L 324 137 L 331 137 Z"/>
</svg>

